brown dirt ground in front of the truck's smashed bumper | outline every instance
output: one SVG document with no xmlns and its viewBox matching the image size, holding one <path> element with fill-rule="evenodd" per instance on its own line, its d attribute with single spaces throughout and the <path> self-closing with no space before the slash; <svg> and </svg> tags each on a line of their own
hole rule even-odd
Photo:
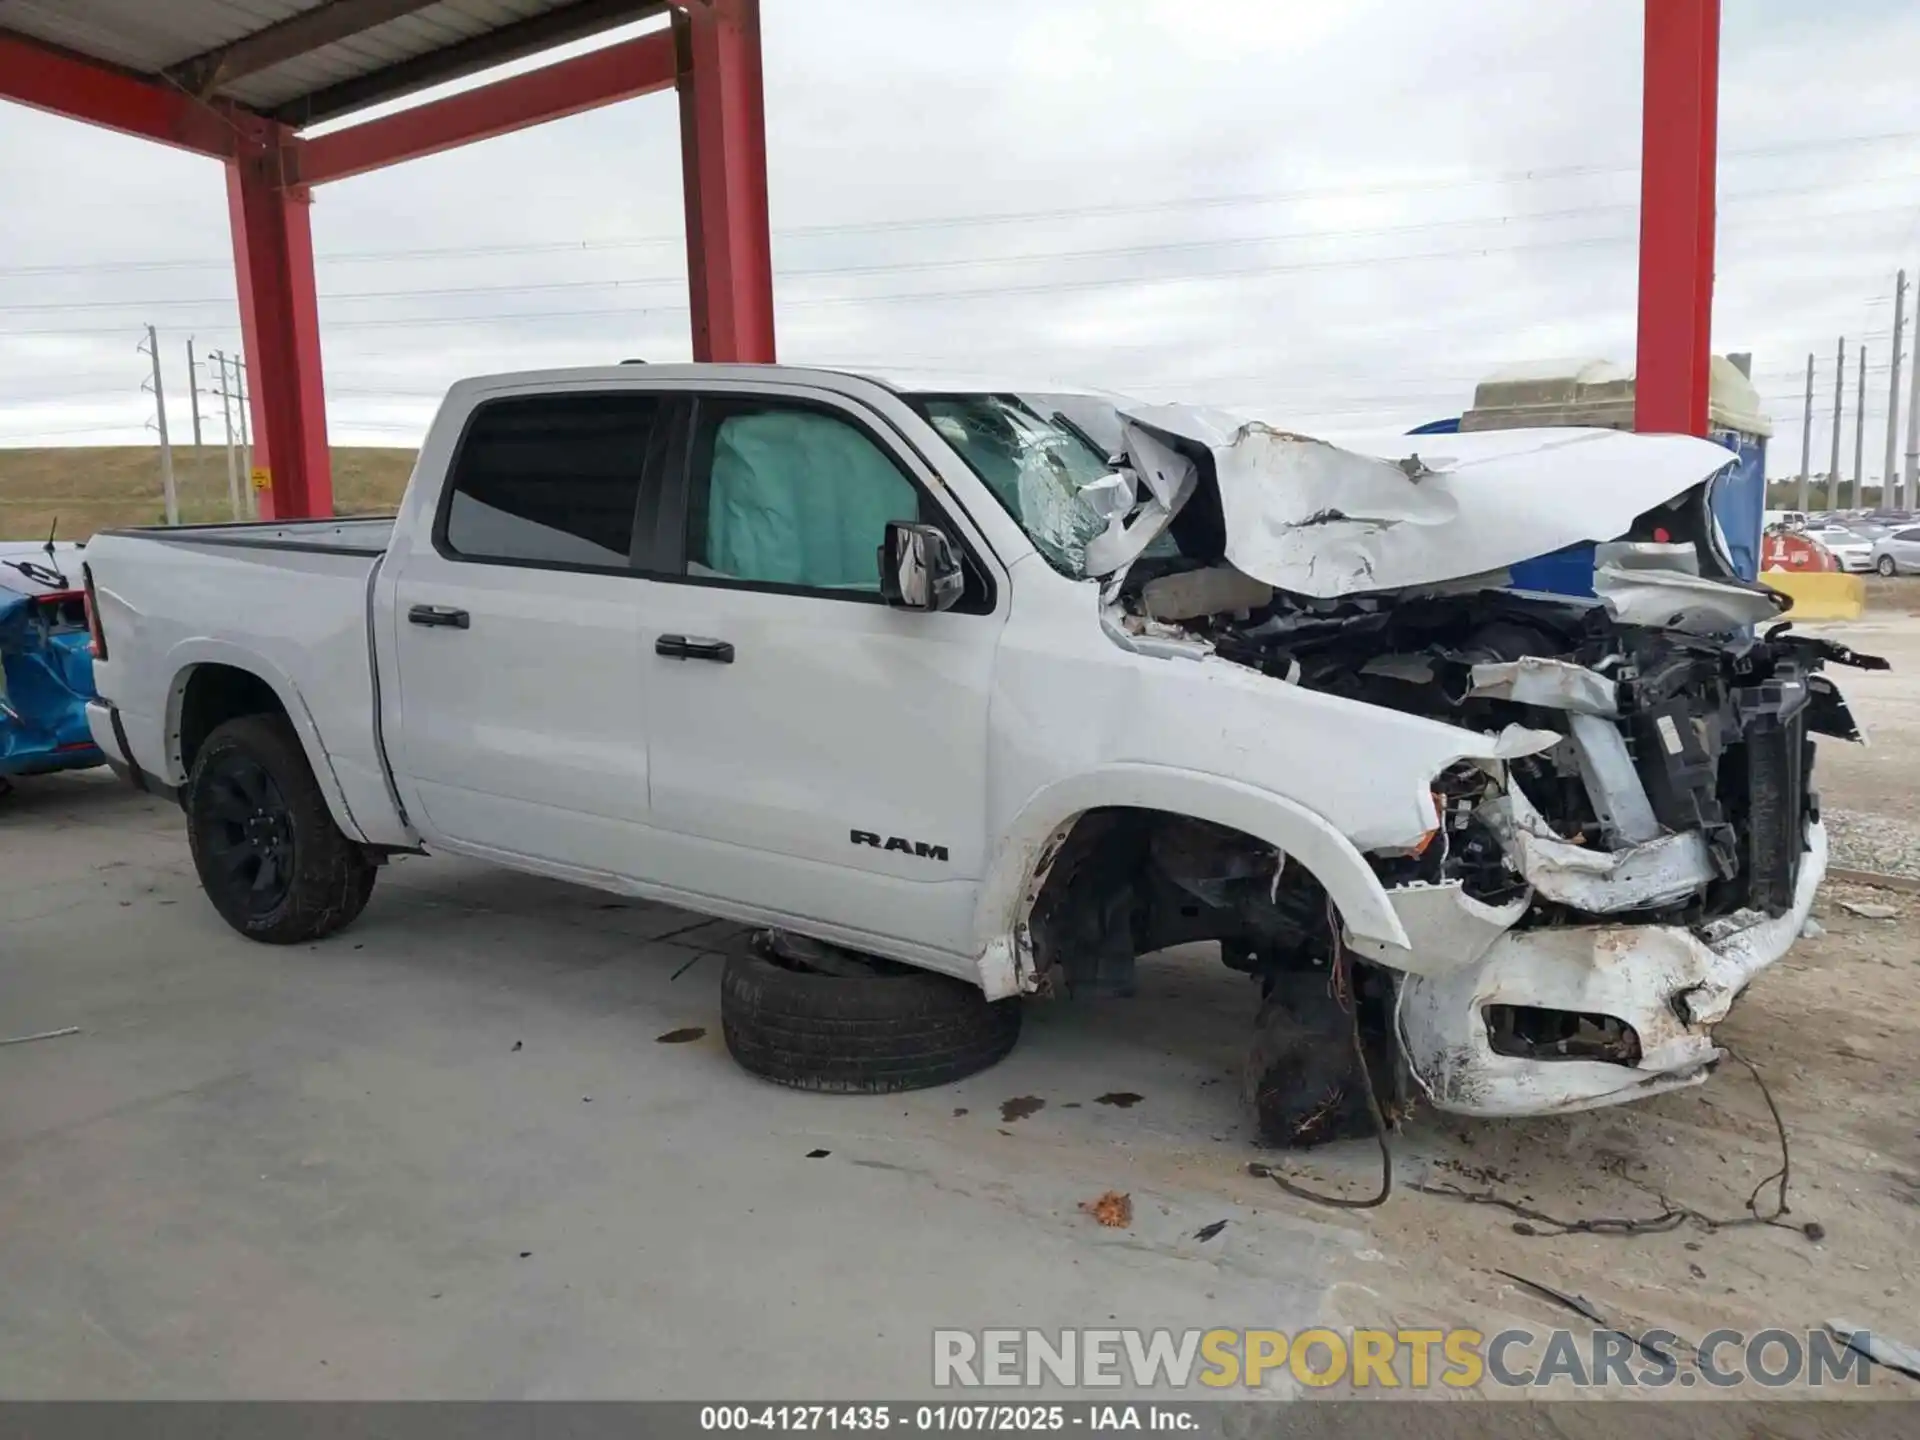
<svg viewBox="0 0 1920 1440">
<path fill-rule="evenodd" d="M 1847 900 L 1893 904 L 1899 916 L 1866 920 Z M 1578 1315 L 1501 1275 L 1509 1271 L 1584 1296 L 1628 1332 L 1659 1327 L 1697 1342 L 1716 1329 L 1807 1331 L 1847 1319 L 1920 1342 L 1920 897 L 1832 885 L 1816 918 L 1826 933 L 1766 972 L 1720 1031 L 1759 1069 L 1786 1123 L 1789 1212 L 1778 1225 L 1682 1219 L 1663 1233 L 1553 1235 L 1486 1202 L 1572 1223 L 1674 1208 L 1745 1221 L 1761 1187 L 1761 1213 L 1772 1213 L 1776 1187 L 1763 1181 L 1780 1169 L 1780 1139 L 1759 1083 L 1736 1062 L 1699 1089 L 1561 1119 L 1425 1112 L 1396 1140 L 1396 1194 L 1350 1221 L 1380 1258 L 1336 1292 L 1342 1319 L 1586 1332 Z M 1338 1162 L 1308 1158 L 1286 1171 L 1365 1190 L 1373 1154 L 1340 1148 Z M 1876 1388 L 1920 1396 L 1889 1371 Z"/>
</svg>

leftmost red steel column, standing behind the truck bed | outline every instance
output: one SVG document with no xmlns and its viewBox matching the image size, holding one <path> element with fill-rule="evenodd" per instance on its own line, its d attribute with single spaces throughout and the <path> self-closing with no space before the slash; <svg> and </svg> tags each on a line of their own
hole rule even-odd
<svg viewBox="0 0 1920 1440">
<path fill-rule="evenodd" d="M 313 288 L 311 196 L 284 182 L 292 132 L 240 117 L 227 163 L 227 211 L 240 286 L 240 334 L 253 403 L 253 468 L 265 468 L 263 518 L 334 513 L 321 378 L 321 307 Z"/>
</svg>

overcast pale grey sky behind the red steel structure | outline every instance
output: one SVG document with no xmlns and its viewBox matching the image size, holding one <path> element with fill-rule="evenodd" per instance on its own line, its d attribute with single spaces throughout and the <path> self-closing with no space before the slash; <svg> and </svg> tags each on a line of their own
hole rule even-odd
<svg viewBox="0 0 1920 1440">
<path fill-rule="evenodd" d="M 1457 415 L 1513 361 L 1630 365 L 1640 13 L 764 0 L 781 357 L 1321 432 Z M 1768 468 L 1799 467 L 1809 351 L 1826 467 L 1845 334 L 1843 470 L 1864 342 L 1878 474 L 1893 271 L 1920 269 L 1920 6 L 1724 0 L 1720 154 L 1713 338 L 1755 353 Z M 680 211 L 668 96 L 321 190 L 336 444 L 417 444 L 461 374 L 685 359 Z M 150 438 L 146 323 L 179 442 L 188 336 L 238 348 L 221 167 L 0 104 L 0 445 Z"/>
</svg>

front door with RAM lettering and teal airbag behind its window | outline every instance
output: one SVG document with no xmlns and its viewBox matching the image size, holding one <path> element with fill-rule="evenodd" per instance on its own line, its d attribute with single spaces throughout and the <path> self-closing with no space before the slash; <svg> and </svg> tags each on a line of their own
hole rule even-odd
<svg viewBox="0 0 1920 1440">
<path fill-rule="evenodd" d="M 964 954 L 1006 584 L 889 434 L 852 405 L 687 401 L 643 618 L 653 816 L 674 885 Z M 887 520 L 968 557 L 954 609 L 881 601 Z"/>
</svg>

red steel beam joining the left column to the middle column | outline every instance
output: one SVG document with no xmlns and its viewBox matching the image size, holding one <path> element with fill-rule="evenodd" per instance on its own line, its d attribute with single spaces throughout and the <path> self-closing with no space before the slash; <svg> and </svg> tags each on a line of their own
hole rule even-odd
<svg viewBox="0 0 1920 1440">
<path fill-rule="evenodd" d="M 298 179 L 301 184 L 344 180 L 403 159 L 666 90 L 672 83 L 672 35 L 641 35 L 397 115 L 301 140 L 296 148 Z"/>
</svg>

